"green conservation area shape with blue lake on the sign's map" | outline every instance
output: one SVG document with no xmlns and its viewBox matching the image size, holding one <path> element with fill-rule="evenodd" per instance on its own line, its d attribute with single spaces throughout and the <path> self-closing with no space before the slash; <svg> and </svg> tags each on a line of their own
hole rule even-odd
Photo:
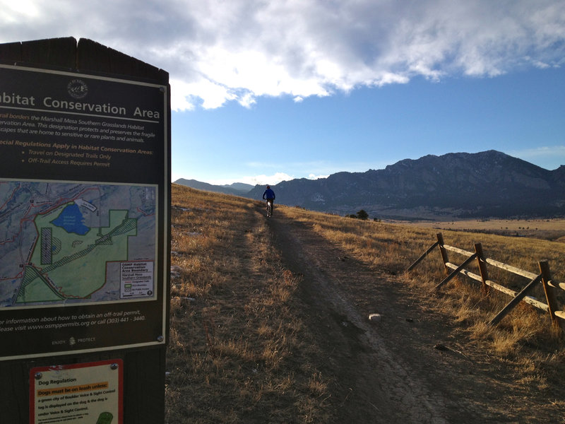
<svg viewBox="0 0 565 424">
<path fill-rule="evenodd" d="M 70 202 L 35 217 L 40 237 L 24 265 L 16 304 L 88 299 L 105 285 L 107 263 L 127 260 L 137 219 L 129 218 L 127 210 L 110 210 L 108 227 L 88 228 L 73 215 L 73 207 Z"/>
</svg>

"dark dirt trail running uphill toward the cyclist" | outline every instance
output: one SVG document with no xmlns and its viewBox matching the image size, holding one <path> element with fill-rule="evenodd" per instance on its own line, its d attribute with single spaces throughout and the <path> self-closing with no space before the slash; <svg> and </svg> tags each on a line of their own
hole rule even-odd
<svg viewBox="0 0 565 424">
<path fill-rule="evenodd" d="M 268 225 L 285 266 L 304 276 L 299 295 L 308 307 L 302 318 L 323 348 L 323 372 L 335 381 L 328 399 L 338 410 L 335 423 L 524 418 L 501 405 L 510 387 L 458 351 L 453 331 L 422 310 L 400 278 L 369 270 L 280 210 Z M 369 285 L 379 286 L 378 298 L 364 297 Z M 369 313 L 381 314 L 381 321 L 369 322 Z"/>
</svg>

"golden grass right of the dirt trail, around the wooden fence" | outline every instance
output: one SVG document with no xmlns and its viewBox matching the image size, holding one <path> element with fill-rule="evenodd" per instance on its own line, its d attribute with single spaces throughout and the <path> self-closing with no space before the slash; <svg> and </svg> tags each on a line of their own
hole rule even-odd
<svg viewBox="0 0 565 424">
<path fill-rule="evenodd" d="M 327 240 L 347 249 L 352 256 L 374 269 L 401 275 L 401 281 L 420 290 L 424 295 L 445 276 L 443 262 L 436 249 L 411 273 L 405 269 L 420 257 L 436 241 L 438 230 L 421 228 L 416 225 L 382 223 L 357 220 L 304 211 L 300 208 L 285 208 L 285 214 L 300 220 L 325 237 Z M 555 281 L 565 281 L 565 244 L 527 237 L 503 237 L 480 232 L 460 232 L 441 230 L 444 242 L 448 245 L 475 252 L 474 245 L 482 244 L 486 257 L 516 266 L 517 268 L 540 273 L 538 261 L 548 260 Z M 449 252 L 449 259 L 455 264 L 467 257 Z M 468 269 L 479 274 L 476 262 Z M 451 272 L 451 270 L 450 270 Z M 489 279 L 513 290 L 521 290 L 528 280 L 508 271 L 489 266 Z M 564 290 L 555 290 L 561 310 L 565 309 Z M 480 284 L 463 276 L 454 278 L 430 305 L 441 313 L 453 317 L 455 322 L 468 326 L 472 338 L 482 343 L 489 341 L 489 348 L 497 355 L 511 353 L 521 343 L 549 343 L 559 345 L 561 338 L 550 324 L 549 315 L 530 305 L 521 303 L 507 315 L 497 327 L 488 322 L 511 300 L 503 293 L 490 290 L 489 296 L 481 293 Z M 546 302 L 542 285 L 531 293 L 535 298 Z"/>
</svg>

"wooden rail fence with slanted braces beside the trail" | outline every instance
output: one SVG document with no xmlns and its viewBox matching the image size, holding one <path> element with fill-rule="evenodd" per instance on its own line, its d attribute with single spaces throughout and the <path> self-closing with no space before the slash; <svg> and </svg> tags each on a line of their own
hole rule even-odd
<svg viewBox="0 0 565 424">
<path fill-rule="evenodd" d="M 560 326 L 562 330 L 565 330 L 565 311 L 559 310 L 557 296 L 555 293 L 555 289 L 557 288 L 565 290 L 565 283 L 558 283 L 557 281 L 552 280 L 551 272 L 549 271 L 549 263 L 547 261 L 538 262 L 538 266 L 540 267 L 539 274 L 531 273 L 524 271 L 523 269 L 518 269 L 515 266 L 503 264 L 502 262 L 495 261 L 494 259 L 484 257 L 482 245 L 480 243 L 475 244 L 475 252 L 468 252 L 466 250 L 459 249 L 458 247 L 446 245 L 444 243 L 444 237 L 443 235 L 441 235 L 441 232 L 439 232 L 436 237 L 437 241 L 432 246 L 430 246 L 429 249 L 427 249 L 427 251 L 424 252 L 424 254 L 422 254 L 422 256 L 420 256 L 412 265 L 410 265 L 407 270 L 411 271 L 412 269 L 414 269 L 417 264 L 420 264 L 422 259 L 427 257 L 427 255 L 429 255 L 436 247 L 438 247 L 439 252 L 441 253 L 441 260 L 444 262 L 447 276 L 435 286 L 434 291 L 439 290 L 439 288 L 448 283 L 448 281 L 451 281 L 453 277 L 457 276 L 458 274 L 462 274 L 464 276 L 472 278 L 475 281 L 479 281 L 482 284 L 482 291 L 485 295 L 489 293 L 490 288 L 493 288 L 494 290 L 498 290 L 502 293 L 505 293 L 506 295 L 511 296 L 512 300 L 498 314 L 496 314 L 493 319 L 491 319 L 490 324 L 494 325 L 500 322 L 500 320 L 503 319 L 506 314 L 508 314 L 513 309 L 513 307 L 518 305 L 519 302 L 523 301 L 534 307 L 537 307 L 537 309 L 549 312 L 549 317 L 552 320 L 552 324 L 555 326 Z M 461 254 L 464 257 L 468 257 L 468 259 L 465 259 L 465 261 L 463 261 L 463 264 L 453 264 L 449 261 L 448 251 Z M 472 273 L 465 269 L 465 267 L 471 264 L 473 261 L 477 262 L 480 275 L 477 275 L 476 273 Z M 508 271 L 518 276 L 527 278 L 529 282 L 520 292 L 517 293 L 511 288 L 507 288 L 504 285 L 490 280 L 487 265 L 495 266 L 498 269 L 503 269 L 504 271 Z M 540 283 L 542 284 L 547 303 L 540 302 L 540 300 L 537 300 L 528 295 L 528 293 L 531 293 L 533 288 L 535 288 L 535 286 Z"/>
</svg>

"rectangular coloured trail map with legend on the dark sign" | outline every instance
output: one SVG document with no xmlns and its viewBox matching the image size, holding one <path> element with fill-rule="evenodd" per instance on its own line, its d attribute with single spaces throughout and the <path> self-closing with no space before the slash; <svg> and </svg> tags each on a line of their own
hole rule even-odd
<svg viewBox="0 0 565 424">
<path fill-rule="evenodd" d="M 157 188 L 0 179 L 0 307 L 154 298 Z"/>
</svg>

